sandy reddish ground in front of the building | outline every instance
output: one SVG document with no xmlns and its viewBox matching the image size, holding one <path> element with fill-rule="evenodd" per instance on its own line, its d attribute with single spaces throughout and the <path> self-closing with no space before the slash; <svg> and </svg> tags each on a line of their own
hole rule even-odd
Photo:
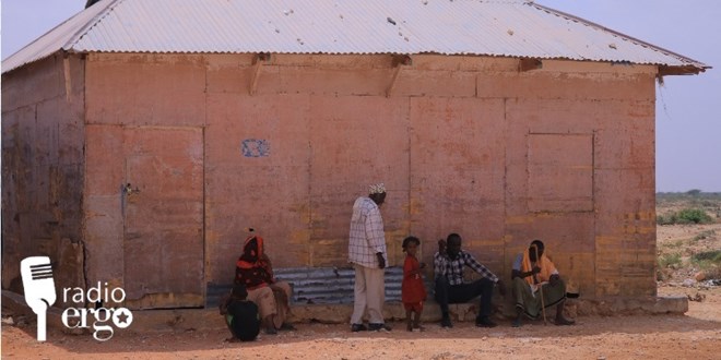
<svg viewBox="0 0 721 360">
<path fill-rule="evenodd" d="M 225 343 L 224 331 L 130 334 L 105 343 L 90 335 L 49 329 L 37 343 L 35 324 L 2 326 L 2 359 L 719 359 L 721 288 L 662 287 L 686 293 L 685 315 L 580 317 L 575 326 L 543 322 L 476 328 L 425 324 L 409 333 L 392 323 L 389 333 L 351 333 L 346 325 L 298 324 L 297 331 L 261 335 L 253 343 Z"/>
</svg>

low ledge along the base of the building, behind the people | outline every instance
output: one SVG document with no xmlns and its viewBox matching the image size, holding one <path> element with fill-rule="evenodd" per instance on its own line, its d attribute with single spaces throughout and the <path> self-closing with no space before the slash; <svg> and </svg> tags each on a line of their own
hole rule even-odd
<svg viewBox="0 0 721 360">
<path fill-rule="evenodd" d="M 477 314 L 477 300 L 469 303 L 451 304 L 449 307 L 451 319 L 454 322 L 472 322 Z M 35 319 L 35 313 L 27 307 L 23 296 L 2 290 L 2 307 L 14 314 Z M 608 299 L 568 299 L 566 315 L 577 316 L 612 316 L 612 315 L 657 315 L 675 314 L 683 315 L 688 311 L 688 299 L 684 296 L 676 297 L 647 297 L 647 298 L 608 298 Z M 292 307 L 291 321 L 294 323 L 327 323 L 347 324 L 353 312 L 352 303 L 344 304 L 294 304 Z M 123 332 L 167 332 L 167 331 L 200 331 L 200 329 L 224 329 L 225 323 L 220 316 L 217 309 L 174 309 L 174 310 L 135 310 L 133 322 Z M 69 329 L 62 325 L 60 316 L 62 310 L 50 308 L 47 322 L 49 327 L 61 329 L 67 334 L 84 334 L 87 331 Z M 511 319 L 513 307 L 510 303 L 500 302 L 495 309 L 499 319 Z M 555 314 L 555 309 L 549 309 L 548 315 Z M 383 307 L 383 316 L 387 321 L 399 321 L 405 319 L 405 309 L 398 301 L 387 302 Z M 440 321 L 440 309 L 436 302 L 428 301 L 424 304 L 424 322 Z"/>
</svg>

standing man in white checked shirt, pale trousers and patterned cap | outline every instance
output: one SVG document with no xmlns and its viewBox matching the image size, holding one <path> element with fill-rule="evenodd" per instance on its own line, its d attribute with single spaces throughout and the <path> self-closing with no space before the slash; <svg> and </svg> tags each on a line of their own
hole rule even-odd
<svg viewBox="0 0 721 360">
<path fill-rule="evenodd" d="M 383 279 L 388 255 L 386 233 L 379 206 L 386 201 L 382 183 L 370 185 L 368 196 L 356 199 L 351 218 L 348 262 L 355 269 L 355 288 L 351 331 L 390 331 L 383 322 L 386 281 Z M 363 315 L 368 312 L 368 327 Z"/>
</svg>

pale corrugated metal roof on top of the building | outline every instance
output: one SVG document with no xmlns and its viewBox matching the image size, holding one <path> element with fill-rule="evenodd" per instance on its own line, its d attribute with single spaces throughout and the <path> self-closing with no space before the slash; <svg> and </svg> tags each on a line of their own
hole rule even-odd
<svg viewBox="0 0 721 360">
<path fill-rule="evenodd" d="M 3 61 L 70 52 L 441 53 L 710 67 L 529 1 L 105 0 Z"/>
</svg>

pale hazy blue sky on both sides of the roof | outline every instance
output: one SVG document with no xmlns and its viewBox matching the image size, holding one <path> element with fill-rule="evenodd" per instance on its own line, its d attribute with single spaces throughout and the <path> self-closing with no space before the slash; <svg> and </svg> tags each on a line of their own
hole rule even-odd
<svg viewBox="0 0 721 360">
<path fill-rule="evenodd" d="M 80 12 L 85 1 L 2 0 L 2 59 Z M 721 191 L 721 0 L 535 2 L 714 68 L 665 76 L 657 86 L 657 190 Z"/>
</svg>

